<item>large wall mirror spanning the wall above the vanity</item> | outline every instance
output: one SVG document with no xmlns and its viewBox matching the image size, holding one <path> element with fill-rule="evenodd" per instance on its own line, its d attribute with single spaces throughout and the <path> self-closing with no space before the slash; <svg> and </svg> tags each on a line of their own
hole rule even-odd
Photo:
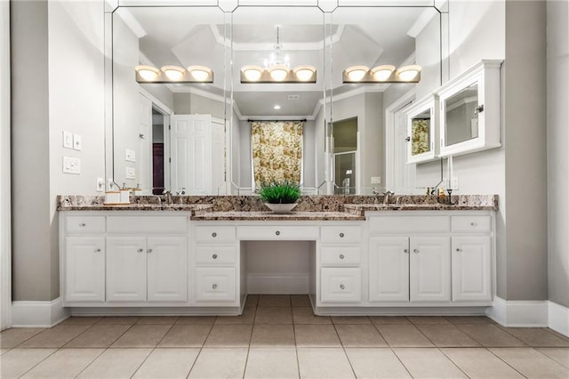
<svg viewBox="0 0 569 379">
<path fill-rule="evenodd" d="M 255 186 L 253 124 L 299 121 L 305 193 L 364 194 L 385 187 L 392 164 L 385 149 L 391 127 L 384 122 L 386 107 L 414 87 L 425 92 L 441 85 L 441 17 L 432 2 L 204 3 L 212 4 L 129 1 L 108 9 L 108 177 L 145 194 L 248 194 Z M 271 63 L 291 70 L 311 66 L 316 80 L 243 82 L 244 66 Z M 342 82 L 351 66 L 415 63 L 422 67 L 418 85 Z M 212 69 L 213 79 L 141 84 L 134 70 L 139 65 L 200 65 Z"/>
</svg>

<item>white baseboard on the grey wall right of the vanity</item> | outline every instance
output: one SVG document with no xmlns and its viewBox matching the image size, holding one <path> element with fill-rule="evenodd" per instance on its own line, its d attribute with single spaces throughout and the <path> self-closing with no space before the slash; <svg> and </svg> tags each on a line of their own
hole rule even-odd
<svg viewBox="0 0 569 379">
<path fill-rule="evenodd" d="M 506 301 L 495 297 L 487 316 L 504 327 L 548 327 L 549 301 Z"/>
</svg>

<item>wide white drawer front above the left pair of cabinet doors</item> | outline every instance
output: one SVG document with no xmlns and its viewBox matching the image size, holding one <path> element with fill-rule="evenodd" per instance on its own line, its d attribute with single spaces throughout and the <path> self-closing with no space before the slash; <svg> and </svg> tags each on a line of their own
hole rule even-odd
<svg viewBox="0 0 569 379">
<path fill-rule="evenodd" d="M 188 216 L 108 216 L 109 233 L 187 233 Z"/>
</svg>

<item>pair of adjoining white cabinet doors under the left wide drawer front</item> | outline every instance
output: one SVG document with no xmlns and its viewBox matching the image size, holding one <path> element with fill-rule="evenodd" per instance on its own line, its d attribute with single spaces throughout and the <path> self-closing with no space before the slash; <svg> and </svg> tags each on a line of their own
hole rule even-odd
<svg viewBox="0 0 569 379">
<path fill-rule="evenodd" d="M 108 237 L 108 302 L 186 302 L 185 237 Z"/>
</svg>

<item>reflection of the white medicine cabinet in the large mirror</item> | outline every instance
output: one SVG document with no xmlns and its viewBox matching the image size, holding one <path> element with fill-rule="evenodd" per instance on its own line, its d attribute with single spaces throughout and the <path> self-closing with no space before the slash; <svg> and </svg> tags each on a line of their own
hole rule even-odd
<svg viewBox="0 0 569 379">
<path fill-rule="evenodd" d="M 429 162 L 438 157 L 438 98 L 429 95 L 408 109 L 407 163 Z"/>
</svg>

